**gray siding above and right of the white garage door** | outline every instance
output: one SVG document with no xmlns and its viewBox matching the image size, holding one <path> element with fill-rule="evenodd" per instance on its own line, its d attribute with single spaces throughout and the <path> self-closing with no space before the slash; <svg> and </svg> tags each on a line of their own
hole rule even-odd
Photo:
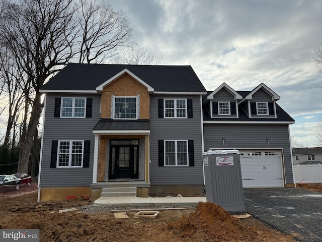
<svg viewBox="0 0 322 242">
<path fill-rule="evenodd" d="M 222 138 L 225 138 L 225 146 Z M 286 184 L 293 184 L 288 125 L 204 124 L 204 149 L 210 148 L 283 149 Z"/>
</svg>

